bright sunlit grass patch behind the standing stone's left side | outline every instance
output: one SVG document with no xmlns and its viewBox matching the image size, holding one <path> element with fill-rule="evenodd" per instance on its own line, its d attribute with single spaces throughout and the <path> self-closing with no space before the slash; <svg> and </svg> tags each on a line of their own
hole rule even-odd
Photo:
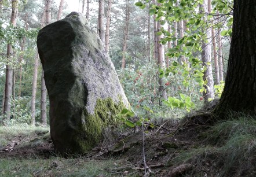
<svg viewBox="0 0 256 177">
<path fill-rule="evenodd" d="M 49 135 L 49 127 L 35 126 L 0 126 L 0 149 L 8 145 L 10 141 L 31 139 L 38 135 Z"/>
</svg>

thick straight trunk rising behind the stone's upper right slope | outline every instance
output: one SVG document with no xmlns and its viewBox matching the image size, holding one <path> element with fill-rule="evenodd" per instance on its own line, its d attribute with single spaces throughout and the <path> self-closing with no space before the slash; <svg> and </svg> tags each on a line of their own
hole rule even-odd
<svg viewBox="0 0 256 177">
<path fill-rule="evenodd" d="M 104 33 L 104 2 L 105 0 L 98 0 L 98 35 L 102 42 L 105 41 Z"/>
</svg>

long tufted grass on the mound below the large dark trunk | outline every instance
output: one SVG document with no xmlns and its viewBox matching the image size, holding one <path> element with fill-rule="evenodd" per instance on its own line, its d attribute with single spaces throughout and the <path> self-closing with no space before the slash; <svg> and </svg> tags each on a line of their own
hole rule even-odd
<svg viewBox="0 0 256 177">
<path fill-rule="evenodd" d="M 184 150 L 169 164 L 195 164 L 194 175 L 256 175 L 256 117 L 236 115 L 202 134 L 200 148 Z"/>
</svg>

